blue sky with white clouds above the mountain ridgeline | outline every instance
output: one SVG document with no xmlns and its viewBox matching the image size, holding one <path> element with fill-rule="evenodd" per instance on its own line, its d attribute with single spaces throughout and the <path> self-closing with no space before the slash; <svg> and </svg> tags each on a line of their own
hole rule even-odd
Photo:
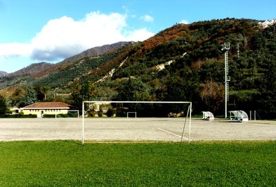
<svg viewBox="0 0 276 187">
<path fill-rule="evenodd" d="M 175 23 L 276 19 L 275 0 L 0 0 L 0 71 L 144 41 Z"/>
</svg>

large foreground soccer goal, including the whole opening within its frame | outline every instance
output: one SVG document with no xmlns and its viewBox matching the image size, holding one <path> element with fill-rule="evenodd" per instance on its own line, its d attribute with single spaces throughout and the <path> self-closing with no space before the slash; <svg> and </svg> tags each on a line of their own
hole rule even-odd
<svg viewBox="0 0 276 187">
<path fill-rule="evenodd" d="M 81 141 L 190 143 L 191 109 L 181 101 L 83 101 Z"/>
</svg>

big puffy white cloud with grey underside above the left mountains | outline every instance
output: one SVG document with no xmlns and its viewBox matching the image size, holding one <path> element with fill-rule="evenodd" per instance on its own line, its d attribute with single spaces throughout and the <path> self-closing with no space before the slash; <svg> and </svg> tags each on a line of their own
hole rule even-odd
<svg viewBox="0 0 276 187">
<path fill-rule="evenodd" d="M 90 12 L 84 19 L 52 19 L 30 44 L 0 44 L 0 58 L 30 56 L 37 61 L 58 61 L 90 47 L 118 41 L 144 41 L 154 33 L 146 28 L 128 30 L 127 16 L 119 13 Z"/>
</svg>

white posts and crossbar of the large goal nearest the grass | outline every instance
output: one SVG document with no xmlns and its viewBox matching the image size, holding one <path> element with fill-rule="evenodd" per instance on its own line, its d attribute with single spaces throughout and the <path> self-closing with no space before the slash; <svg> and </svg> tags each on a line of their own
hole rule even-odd
<svg viewBox="0 0 276 187">
<path fill-rule="evenodd" d="M 82 135 L 81 135 L 81 142 L 82 144 L 84 144 L 84 133 L 85 133 L 85 104 L 189 104 L 188 105 L 188 111 L 187 111 L 187 115 L 186 115 L 186 120 L 188 119 L 188 143 L 190 144 L 190 129 L 191 129 L 191 118 L 192 118 L 192 102 L 186 102 L 186 101 L 83 101 L 82 102 Z M 135 118 L 136 118 L 136 112 L 135 112 Z M 184 135 L 184 129 L 186 126 L 186 120 L 185 120 L 185 124 L 183 127 L 183 133 L 182 136 L 179 135 L 179 137 L 181 137 L 181 141 L 183 139 L 183 135 Z M 178 135 L 177 135 L 178 136 Z"/>
</svg>

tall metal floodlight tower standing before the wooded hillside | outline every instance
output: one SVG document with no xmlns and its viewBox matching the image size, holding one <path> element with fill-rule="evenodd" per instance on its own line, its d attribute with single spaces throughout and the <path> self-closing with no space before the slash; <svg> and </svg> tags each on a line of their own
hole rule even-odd
<svg viewBox="0 0 276 187">
<path fill-rule="evenodd" d="M 221 45 L 221 51 L 224 51 L 224 84 L 225 84 L 225 118 L 227 118 L 227 101 L 229 100 L 229 82 L 230 82 L 230 76 L 228 76 L 228 50 L 230 50 L 230 43 L 224 42 L 224 44 Z"/>
</svg>

